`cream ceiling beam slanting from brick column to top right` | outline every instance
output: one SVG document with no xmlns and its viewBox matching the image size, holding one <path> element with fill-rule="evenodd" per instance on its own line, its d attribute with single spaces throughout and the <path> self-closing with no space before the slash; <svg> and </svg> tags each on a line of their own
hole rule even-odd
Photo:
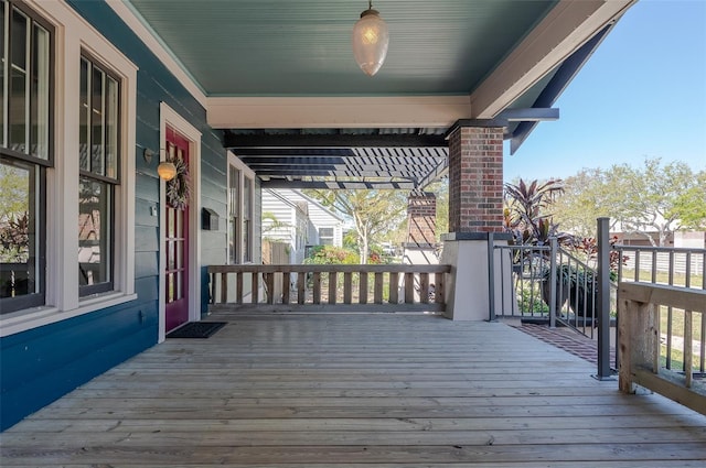
<svg viewBox="0 0 706 468">
<path fill-rule="evenodd" d="M 473 119 L 492 119 L 637 0 L 560 0 L 471 94 Z"/>
</svg>

